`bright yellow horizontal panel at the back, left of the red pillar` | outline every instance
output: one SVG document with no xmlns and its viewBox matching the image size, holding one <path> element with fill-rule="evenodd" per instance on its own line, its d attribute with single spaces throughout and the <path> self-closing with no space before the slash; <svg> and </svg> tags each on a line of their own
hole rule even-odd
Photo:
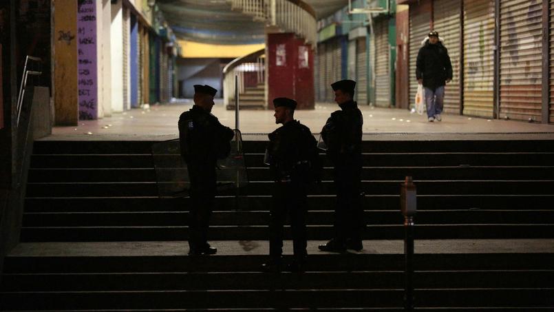
<svg viewBox="0 0 554 312">
<path fill-rule="evenodd" d="M 190 58 L 237 58 L 262 50 L 266 47 L 265 43 L 253 45 L 214 45 L 207 43 L 198 43 L 193 41 L 179 41 L 181 46 L 181 57 Z"/>
</svg>

